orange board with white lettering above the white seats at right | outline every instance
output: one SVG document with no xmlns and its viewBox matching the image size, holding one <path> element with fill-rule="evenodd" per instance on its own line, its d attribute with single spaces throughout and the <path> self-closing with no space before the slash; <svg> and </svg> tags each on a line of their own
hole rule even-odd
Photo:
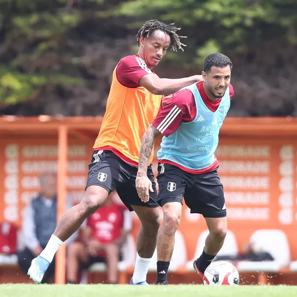
<svg viewBox="0 0 297 297">
<path fill-rule="evenodd" d="M 297 141 L 221 139 L 216 155 L 230 227 L 297 226 Z"/>
</svg>

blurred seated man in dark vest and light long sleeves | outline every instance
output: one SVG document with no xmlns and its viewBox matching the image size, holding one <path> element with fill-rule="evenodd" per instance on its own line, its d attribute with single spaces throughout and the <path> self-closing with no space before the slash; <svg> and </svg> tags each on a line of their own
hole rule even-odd
<svg viewBox="0 0 297 297">
<path fill-rule="evenodd" d="M 71 208 L 70 201 L 66 208 Z M 54 173 L 43 173 L 40 176 L 40 195 L 33 198 L 26 207 L 22 223 L 24 249 L 18 251 L 18 262 L 21 270 L 27 273 L 31 261 L 46 246 L 57 226 L 57 176 Z M 77 233 L 68 242 L 77 238 Z M 55 262 L 51 263 L 43 283 L 50 282 L 55 273 Z"/>
</svg>

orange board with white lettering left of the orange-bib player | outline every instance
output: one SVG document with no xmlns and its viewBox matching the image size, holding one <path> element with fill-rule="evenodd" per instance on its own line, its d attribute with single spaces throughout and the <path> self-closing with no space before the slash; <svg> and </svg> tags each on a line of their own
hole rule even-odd
<svg viewBox="0 0 297 297">
<path fill-rule="evenodd" d="M 83 196 L 91 152 L 91 143 L 69 140 L 67 197 L 73 203 L 79 202 Z M 1 139 L 0 156 L 0 221 L 19 225 L 24 207 L 39 193 L 40 174 L 57 172 L 57 141 Z"/>
</svg>

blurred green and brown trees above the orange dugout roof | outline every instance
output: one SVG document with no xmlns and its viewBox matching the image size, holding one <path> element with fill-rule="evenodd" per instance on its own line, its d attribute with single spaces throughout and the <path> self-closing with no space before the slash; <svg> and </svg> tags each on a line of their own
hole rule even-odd
<svg viewBox="0 0 297 297">
<path fill-rule="evenodd" d="M 0 0 L 0 111 L 102 115 L 114 67 L 158 19 L 188 37 L 161 77 L 200 72 L 221 51 L 235 65 L 231 114 L 297 116 L 296 11 L 295 0 Z"/>
</svg>

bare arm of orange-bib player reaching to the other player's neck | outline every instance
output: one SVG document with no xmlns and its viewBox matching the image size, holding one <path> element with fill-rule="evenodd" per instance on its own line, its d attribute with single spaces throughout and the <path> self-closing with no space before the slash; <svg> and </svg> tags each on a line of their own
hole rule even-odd
<svg viewBox="0 0 297 297">
<path fill-rule="evenodd" d="M 182 79 L 160 79 L 155 74 L 148 74 L 139 79 L 139 85 L 155 95 L 169 95 L 192 83 L 202 81 L 202 75 L 194 75 Z"/>
</svg>

